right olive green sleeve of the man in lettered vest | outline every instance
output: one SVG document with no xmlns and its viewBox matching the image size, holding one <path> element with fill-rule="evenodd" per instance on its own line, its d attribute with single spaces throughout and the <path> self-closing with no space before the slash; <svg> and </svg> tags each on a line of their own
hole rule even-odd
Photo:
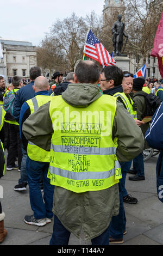
<svg viewBox="0 0 163 256">
<path fill-rule="evenodd" d="M 118 102 L 112 129 L 112 139 L 115 137 L 117 137 L 116 155 L 119 162 L 128 162 L 143 151 L 144 137 L 140 127 Z"/>
</svg>

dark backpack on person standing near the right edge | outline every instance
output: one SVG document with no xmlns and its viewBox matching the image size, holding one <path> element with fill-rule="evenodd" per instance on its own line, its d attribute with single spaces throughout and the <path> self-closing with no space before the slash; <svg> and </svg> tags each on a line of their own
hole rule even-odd
<svg viewBox="0 0 163 256">
<path fill-rule="evenodd" d="M 153 93 L 136 94 L 136 96 L 138 95 L 144 96 L 146 100 L 146 111 L 144 117 L 153 117 L 156 109 L 161 105 L 160 98 Z"/>
</svg>

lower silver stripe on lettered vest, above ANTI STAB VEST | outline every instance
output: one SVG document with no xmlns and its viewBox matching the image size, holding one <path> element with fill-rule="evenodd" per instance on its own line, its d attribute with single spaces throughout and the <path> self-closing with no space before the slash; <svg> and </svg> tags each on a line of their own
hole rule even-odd
<svg viewBox="0 0 163 256">
<path fill-rule="evenodd" d="M 107 179 L 115 175 L 115 168 L 108 170 L 106 172 L 71 172 L 70 170 L 63 170 L 50 166 L 51 173 L 59 175 L 61 177 L 72 179 L 72 180 L 98 180 Z"/>
</svg>

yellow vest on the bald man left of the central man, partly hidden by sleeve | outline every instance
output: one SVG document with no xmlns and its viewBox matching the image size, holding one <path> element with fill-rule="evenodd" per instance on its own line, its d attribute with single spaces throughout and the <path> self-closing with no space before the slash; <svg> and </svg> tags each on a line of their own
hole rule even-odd
<svg viewBox="0 0 163 256">
<path fill-rule="evenodd" d="M 30 113 L 34 113 L 41 107 L 43 104 L 47 103 L 51 100 L 51 96 L 49 95 L 36 95 L 33 99 L 27 100 L 26 103 L 30 108 Z M 50 159 L 50 151 L 46 151 L 40 147 L 37 147 L 34 143 L 28 142 L 27 145 L 27 154 L 31 160 L 37 162 L 49 162 Z"/>
</svg>

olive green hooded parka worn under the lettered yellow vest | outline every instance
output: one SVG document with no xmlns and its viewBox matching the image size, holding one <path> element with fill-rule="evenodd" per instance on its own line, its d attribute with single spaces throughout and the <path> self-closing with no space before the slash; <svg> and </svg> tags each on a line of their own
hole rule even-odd
<svg viewBox="0 0 163 256">
<path fill-rule="evenodd" d="M 62 93 L 62 99 L 77 107 L 86 107 L 102 94 L 95 84 L 69 84 Z M 57 96 L 54 96 L 57 97 Z M 108 99 L 109 99 L 108 95 Z M 39 147 L 50 150 L 53 134 L 49 104 L 41 106 L 23 124 L 26 138 Z M 143 150 L 143 135 L 139 126 L 121 103 L 117 103 L 112 137 L 117 137 L 117 158 L 121 162 L 130 161 Z M 64 227 L 78 238 L 83 229 L 85 240 L 101 235 L 108 228 L 111 217 L 118 215 L 118 184 L 101 191 L 74 193 L 55 186 L 53 212 Z"/>
</svg>

